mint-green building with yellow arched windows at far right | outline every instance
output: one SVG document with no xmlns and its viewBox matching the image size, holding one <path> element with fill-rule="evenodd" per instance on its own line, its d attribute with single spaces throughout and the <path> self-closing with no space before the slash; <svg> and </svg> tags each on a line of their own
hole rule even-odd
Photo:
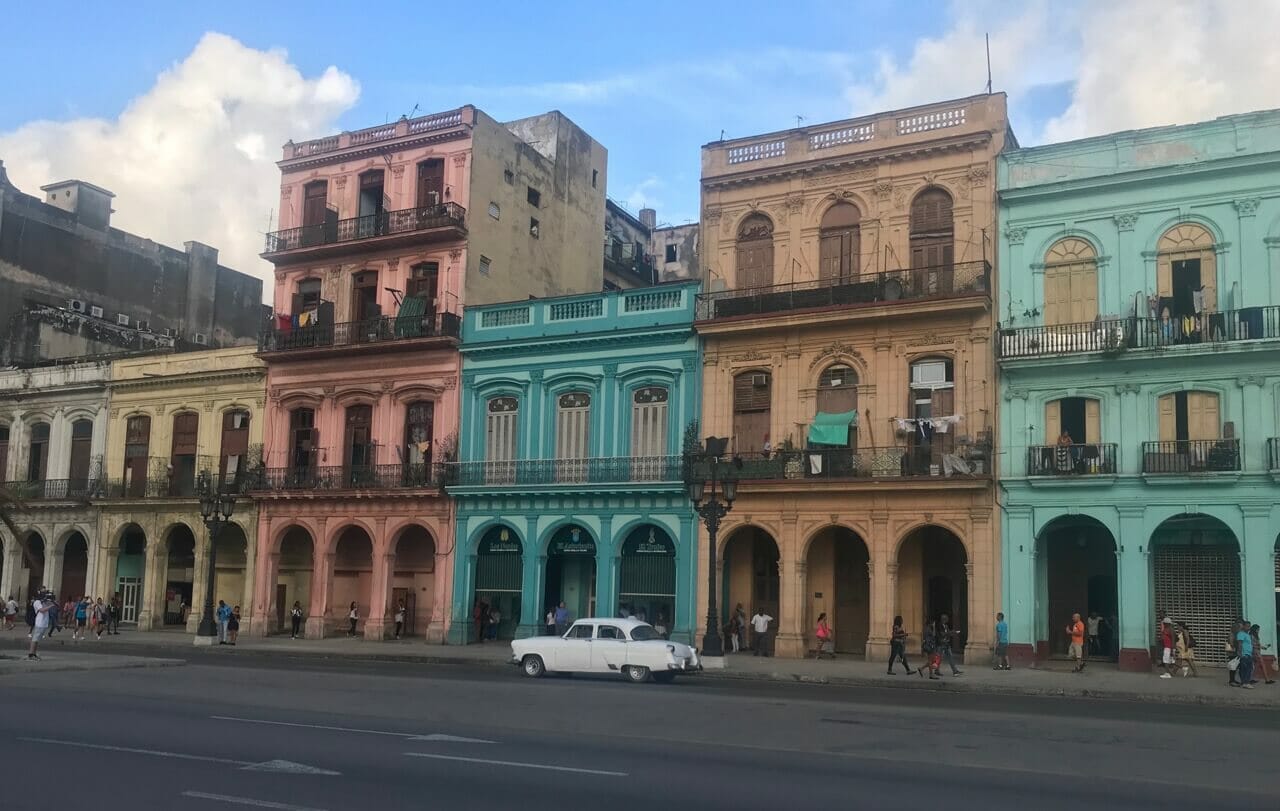
<svg viewBox="0 0 1280 811">
<path fill-rule="evenodd" d="M 1275 645 L 1280 111 L 1011 150 L 1000 194 L 1012 650 L 1147 669 L 1160 623 Z M 1274 650 L 1274 649 L 1272 649 Z"/>
</svg>

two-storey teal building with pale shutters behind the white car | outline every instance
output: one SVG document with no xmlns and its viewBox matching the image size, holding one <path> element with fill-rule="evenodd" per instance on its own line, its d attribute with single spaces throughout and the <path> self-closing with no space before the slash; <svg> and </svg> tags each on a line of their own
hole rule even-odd
<svg viewBox="0 0 1280 811">
<path fill-rule="evenodd" d="M 699 413 L 696 283 L 467 307 L 453 643 L 634 614 L 692 641 L 696 526 L 681 476 Z"/>
</svg>

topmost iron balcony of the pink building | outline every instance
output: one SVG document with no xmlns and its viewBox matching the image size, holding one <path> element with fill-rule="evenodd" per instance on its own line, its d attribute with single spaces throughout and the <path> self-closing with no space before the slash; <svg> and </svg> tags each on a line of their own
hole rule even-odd
<svg viewBox="0 0 1280 811">
<path fill-rule="evenodd" d="M 320 258 L 347 252 L 357 242 L 365 243 L 360 246 L 361 251 L 374 251 L 416 242 L 462 239 L 467 234 L 466 215 L 466 209 L 447 202 L 287 228 L 266 235 L 262 258 L 289 262 Z"/>
</svg>

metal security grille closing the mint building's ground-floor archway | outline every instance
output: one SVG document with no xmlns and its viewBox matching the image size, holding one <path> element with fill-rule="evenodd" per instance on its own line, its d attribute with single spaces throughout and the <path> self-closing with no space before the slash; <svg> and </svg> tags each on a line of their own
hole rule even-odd
<svg viewBox="0 0 1280 811">
<path fill-rule="evenodd" d="M 1225 664 L 1225 645 L 1240 619 L 1240 558 L 1229 546 L 1156 546 L 1152 574 L 1156 633 L 1165 617 L 1184 622 L 1196 636 L 1196 657 Z"/>
</svg>

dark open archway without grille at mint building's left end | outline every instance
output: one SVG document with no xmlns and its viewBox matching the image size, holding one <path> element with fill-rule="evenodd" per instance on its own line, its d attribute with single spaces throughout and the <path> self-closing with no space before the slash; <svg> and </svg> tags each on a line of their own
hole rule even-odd
<svg viewBox="0 0 1280 811">
<path fill-rule="evenodd" d="M 1037 602 L 1044 606 L 1037 655 L 1066 656 L 1066 626 L 1079 613 L 1091 632 L 1085 655 L 1114 661 L 1120 655 L 1120 602 L 1111 532 L 1087 516 L 1064 516 L 1051 521 L 1036 544 Z"/>
</svg>

